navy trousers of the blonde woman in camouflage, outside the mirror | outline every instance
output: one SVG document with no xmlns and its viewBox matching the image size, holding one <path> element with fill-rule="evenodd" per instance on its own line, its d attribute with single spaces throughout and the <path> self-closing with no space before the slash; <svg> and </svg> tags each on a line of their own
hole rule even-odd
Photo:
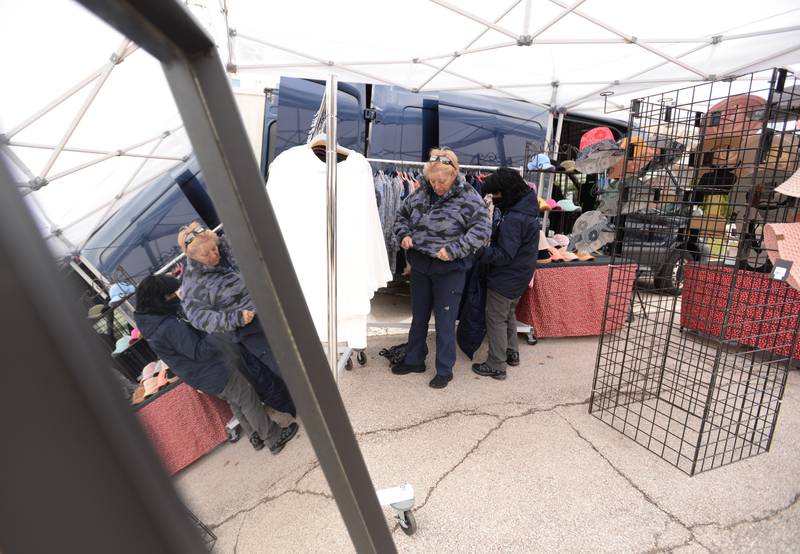
<svg viewBox="0 0 800 554">
<path fill-rule="evenodd" d="M 427 275 L 411 269 L 411 329 L 408 332 L 406 363 L 425 363 L 428 321 L 436 318 L 436 373 L 453 374 L 456 362 L 455 325 L 464 290 L 466 271 Z"/>
</svg>

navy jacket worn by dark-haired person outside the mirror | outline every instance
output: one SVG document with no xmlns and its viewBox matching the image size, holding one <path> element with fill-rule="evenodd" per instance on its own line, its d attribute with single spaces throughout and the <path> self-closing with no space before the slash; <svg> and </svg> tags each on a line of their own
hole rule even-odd
<svg viewBox="0 0 800 554">
<path fill-rule="evenodd" d="M 488 266 L 486 286 L 506 298 L 519 298 L 536 268 L 540 228 L 536 194 L 525 194 L 496 222 L 492 244 L 480 257 Z"/>
</svg>

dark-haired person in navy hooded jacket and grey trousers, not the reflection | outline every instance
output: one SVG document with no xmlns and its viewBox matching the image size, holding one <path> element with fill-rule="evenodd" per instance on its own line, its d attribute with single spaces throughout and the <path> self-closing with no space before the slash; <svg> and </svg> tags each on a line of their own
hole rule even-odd
<svg viewBox="0 0 800 554">
<path fill-rule="evenodd" d="M 494 379 L 506 378 L 506 365 L 519 365 L 517 303 L 533 276 L 539 245 L 539 202 L 515 170 L 501 167 L 483 186 L 495 212 L 492 242 L 479 255 L 486 266 L 486 335 L 489 355 L 472 371 Z"/>
</svg>

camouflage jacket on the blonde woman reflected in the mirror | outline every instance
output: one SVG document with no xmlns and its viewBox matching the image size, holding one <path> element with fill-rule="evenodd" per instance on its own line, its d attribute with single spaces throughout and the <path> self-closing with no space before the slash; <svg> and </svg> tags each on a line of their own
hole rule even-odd
<svg viewBox="0 0 800 554">
<path fill-rule="evenodd" d="M 225 239 L 220 239 L 219 254 L 220 262 L 214 267 L 187 259 L 181 285 L 181 305 L 186 318 L 206 333 L 242 327 L 242 310 L 255 311 Z"/>
</svg>

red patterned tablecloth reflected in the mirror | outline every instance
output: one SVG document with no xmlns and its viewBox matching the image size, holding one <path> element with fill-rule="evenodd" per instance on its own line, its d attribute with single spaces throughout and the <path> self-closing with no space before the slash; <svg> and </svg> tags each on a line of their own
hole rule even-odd
<svg viewBox="0 0 800 554">
<path fill-rule="evenodd" d="M 231 410 L 185 383 L 136 412 L 164 467 L 173 475 L 227 440 Z"/>
</svg>

